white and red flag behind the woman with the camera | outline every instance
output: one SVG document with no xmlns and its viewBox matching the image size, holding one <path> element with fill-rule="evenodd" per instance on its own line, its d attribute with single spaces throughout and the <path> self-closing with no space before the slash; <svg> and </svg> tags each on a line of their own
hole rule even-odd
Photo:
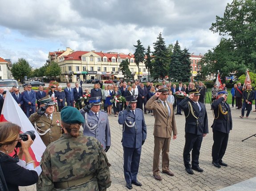
<svg viewBox="0 0 256 191">
<path fill-rule="evenodd" d="M 31 122 L 28 120 L 28 117 L 25 115 L 8 90 L 4 98 L 4 105 L 0 116 L 0 122 L 1 121 L 9 121 L 19 125 L 22 133 L 30 130 L 35 131 L 36 139 L 31 145 L 29 153 L 33 160 L 35 160 L 36 166 L 38 166 L 41 161 L 41 156 L 46 148 L 45 144 L 41 140 L 41 137 L 38 135 Z"/>
</svg>

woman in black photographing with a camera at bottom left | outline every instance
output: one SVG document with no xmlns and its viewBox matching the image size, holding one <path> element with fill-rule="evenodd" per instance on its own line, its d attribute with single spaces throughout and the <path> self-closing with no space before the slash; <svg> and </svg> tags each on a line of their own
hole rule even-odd
<svg viewBox="0 0 256 191">
<path fill-rule="evenodd" d="M 20 136 L 20 126 L 10 122 L 0 122 L 0 191 L 18 191 L 19 186 L 29 186 L 37 183 L 41 167 L 34 169 L 35 161 L 28 152 L 33 140 L 23 141 Z M 25 156 L 25 161 L 12 158 L 17 143 L 21 143 L 18 156 Z"/>
</svg>

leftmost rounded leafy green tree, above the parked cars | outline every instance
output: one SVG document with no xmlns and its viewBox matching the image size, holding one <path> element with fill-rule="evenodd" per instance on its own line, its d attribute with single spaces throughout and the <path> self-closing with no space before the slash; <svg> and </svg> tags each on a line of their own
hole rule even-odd
<svg viewBox="0 0 256 191">
<path fill-rule="evenodd" d="M 28 61 L 24 58 L 19 58 L 17 62 L 12 64 L 11 72 L 16 80 L 24 83 L 24 77 L 30 76 L 31 70 L 32 66 L 29 65 Z"/>
</svg>

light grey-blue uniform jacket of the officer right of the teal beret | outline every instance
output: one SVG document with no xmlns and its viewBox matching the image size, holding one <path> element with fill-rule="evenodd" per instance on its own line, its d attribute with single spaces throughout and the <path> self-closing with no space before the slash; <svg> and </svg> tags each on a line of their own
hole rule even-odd
<svg viewBox="0 0 256 191">
<path fill-rule="evenodd" d="M 82 124 L 84 135 L 93 136 L 98 139 L 105 150 L 106 146 L 111 145 L 110 124 L 107 113 L 104 111 L 99 111 L 99 120 L 91 110 L 85 113 L 83 109 L 80 109 L 80 113 L 84 117 L 87 115 L 87 124 L 89 127 L 93 127 L 95 124 L 97 124 L 94 131 L 90 131 L 85 124 Z"/>
</svg>

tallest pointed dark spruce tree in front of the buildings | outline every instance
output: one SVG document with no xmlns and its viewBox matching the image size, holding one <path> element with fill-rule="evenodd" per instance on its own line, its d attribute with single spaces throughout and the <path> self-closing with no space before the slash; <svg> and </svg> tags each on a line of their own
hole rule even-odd
<svg viewBox="0 0 256 191">
<path fill-rule="evenodd" d="M 160 33 L 157 37 L 157 41 L 154 44 L 154 65 L 153 65 L 153 73 L 151 76 L 153 78 L 164 78 L 167 75 L 167 66 L 168 66 L 168 58 L 167 58 L 167 48 L 165 46 L 164 39 L 162 34 Z"/>
</svg>

